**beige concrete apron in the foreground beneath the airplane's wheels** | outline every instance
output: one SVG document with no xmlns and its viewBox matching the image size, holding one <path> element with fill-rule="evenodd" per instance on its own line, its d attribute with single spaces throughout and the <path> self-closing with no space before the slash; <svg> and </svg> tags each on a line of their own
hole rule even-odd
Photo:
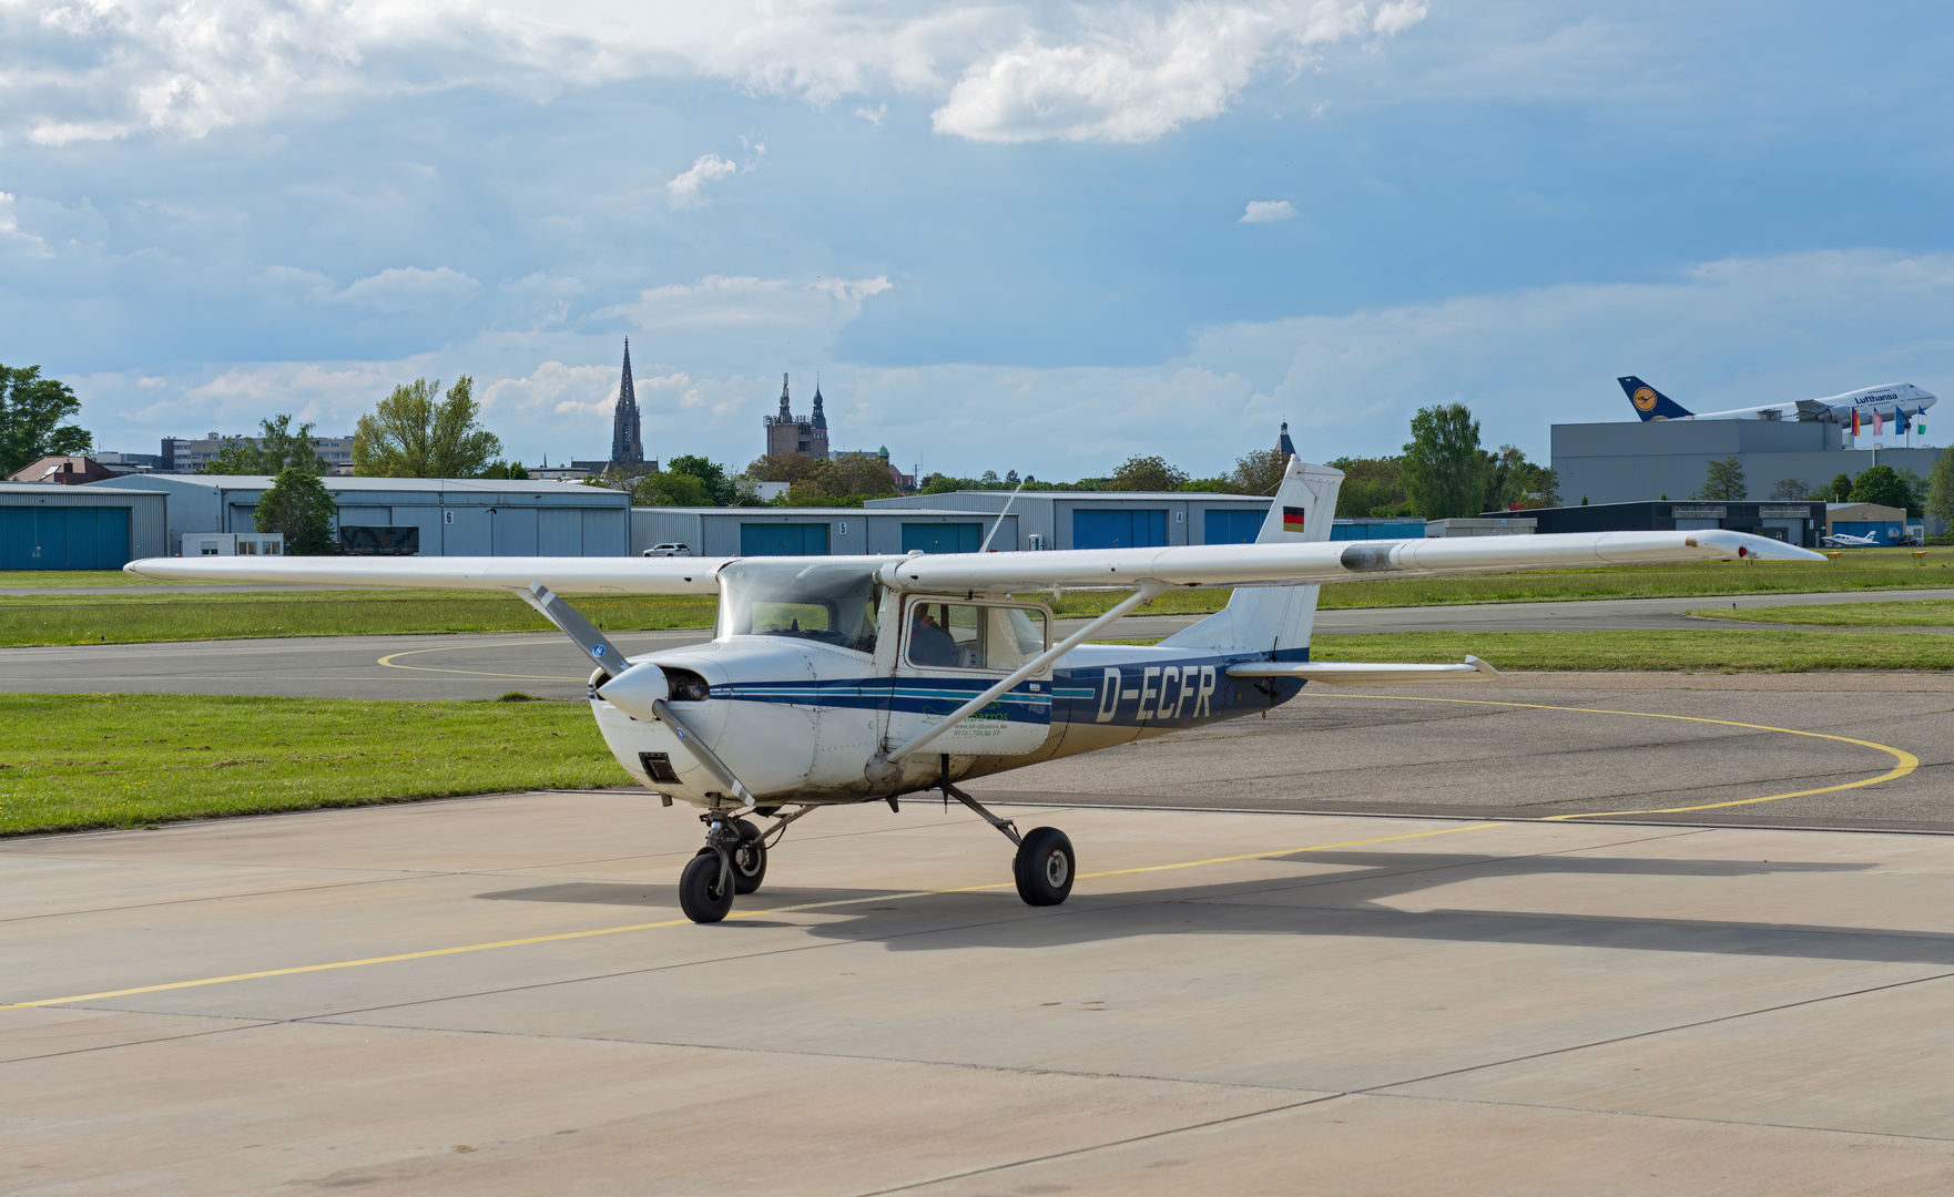
<svg viewBox="0 0 1954 1197">
<path fill-rule="evenodd" d="M 916 803 L 709 928 L 619 793 L 8 842 L 0 1000 L 258 976 L 0 1011 L 0 1191 L 1954 1181 L 1950 838 L 1008 814 L 1065 906 Z"/>
</svg>

